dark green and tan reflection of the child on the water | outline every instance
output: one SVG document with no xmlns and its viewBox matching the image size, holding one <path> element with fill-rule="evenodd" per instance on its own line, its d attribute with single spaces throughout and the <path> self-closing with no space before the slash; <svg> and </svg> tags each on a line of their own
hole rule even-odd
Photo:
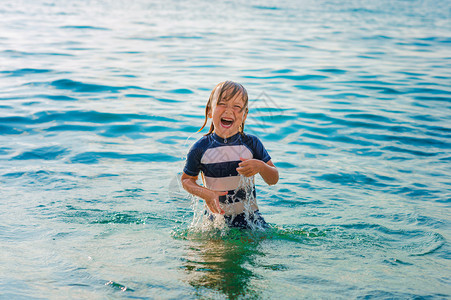
<svg viewBox="0 0 451 300">
<path fill-rule="evenodd" d="M 252 285 L 252 280 L 258 277 L 253 266 L 264 255 L 259 252 L 259 239 L 232 231 L 234 234 L 228 238 L 190 241 L 184 268 L 186 281 L 195 288 L 196 296 L 210 293 L 228 299 L 260 296 L 260 291 Z"/>
</svg>

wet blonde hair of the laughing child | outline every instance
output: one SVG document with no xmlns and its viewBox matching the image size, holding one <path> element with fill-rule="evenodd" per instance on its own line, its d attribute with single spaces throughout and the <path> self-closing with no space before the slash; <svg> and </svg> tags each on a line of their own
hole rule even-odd
<svg viewBox="0 0 451 300">
<path fill-rule="evenodd" d="M 241 99 L 243 99 L 243 102 L 244 102 L 244 106 L 240 112 L 242 112 L 243 110 L 246 110 L 246 113 L 247 113 L 249 111 L 248 107 L 247 107 L 249 99 L 247 96 L 246 89 L 241 84 L 239 84 L 237 82 L 233 82 L 233 81 L 224 81 L 224 82 L 218 83 L 215 86 L 215 88 L 211 91 L 210 98 L 208 99 L 208 102 L 207 102 L 207 106 L 205 106 L 204 125 L 202 125 L 202 127 L 197 132 L 204 129 L 205 125 L 207 124 L 208 113 L 211 111 L 213 101 L 215 101 L 216 104 L 220 100 L 229 101 L 230 99 L 233 99 L 238 94 L 241 95 Z M 212 134 L 214 130 L 215 130 L 215 126 L 214 126 L 213 122 L 211 122 L 210 130 L 208 131 L 208 133 L 206 135 Z M 241 134 L 244 134 L 244 121 L 243 121 L 243 124 L 241 124 L 239 131 Z"/>
</svg>

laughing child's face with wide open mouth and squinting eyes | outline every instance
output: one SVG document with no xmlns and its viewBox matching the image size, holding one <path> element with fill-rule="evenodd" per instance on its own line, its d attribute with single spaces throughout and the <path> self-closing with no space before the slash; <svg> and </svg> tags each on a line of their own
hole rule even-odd
<svg viewBox="0 0 451 300">
<path fill-rule="evenodd" d="M 213 103 L 209 117 L 213 119 L 215 133 L 220 137 L 225 139 L 237 134 L 247 117 L 241 94 L 235 95 L 228 101 L 219 100 Z"/>
</svg>

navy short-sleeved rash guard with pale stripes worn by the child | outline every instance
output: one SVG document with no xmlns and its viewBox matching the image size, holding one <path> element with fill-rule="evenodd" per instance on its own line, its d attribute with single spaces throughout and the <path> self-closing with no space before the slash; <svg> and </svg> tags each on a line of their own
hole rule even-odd
<svg viewBox="0 0 451 300">
<path fill-rule="evenodd" d="M 183 172 L 189 176 L 198 176 L 202 172 L 204 186 L 214 191 L 228 191 L 228 197 L 221 196 L 224 203 L 239 202 L 246 197 L 243 190 L 237 189 L 240 174 L 236 168 L 241 162 L 240 157 L 259 159 L 267 163 L 271 160 L 262 142 L 254 135 L 240 133 L 227 139 L 216 133 L 203 136 L 191 147 Z M 252 188 L 255 196 L 255 187 Z"/>
</svg>

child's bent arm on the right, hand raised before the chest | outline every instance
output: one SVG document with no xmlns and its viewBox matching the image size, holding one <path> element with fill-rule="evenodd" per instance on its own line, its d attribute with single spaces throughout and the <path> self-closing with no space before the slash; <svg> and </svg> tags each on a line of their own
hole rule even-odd
<svg viewBox="0 0 451 300">
<path fill-rule="evenodd" d="M 279 181 L 279 171 L 271 160 L 265 163 L 258 159 L 240 159 L 241 162 L 238 164 L 239 167 L 236 170 L 241 175 L 250 177 L 258 173 L 269 185 L 276 184 Z"/>
</svg>

